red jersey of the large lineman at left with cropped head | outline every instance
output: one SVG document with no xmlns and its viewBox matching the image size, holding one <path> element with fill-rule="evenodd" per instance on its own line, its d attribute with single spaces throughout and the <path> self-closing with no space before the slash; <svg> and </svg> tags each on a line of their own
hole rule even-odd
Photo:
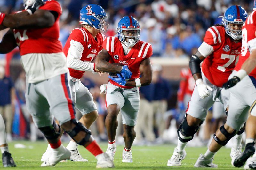
<svg viewBox="0 0 256 170">
<path fill-rule="evenodd" d="M 58 17 L 49 28 L 41 29 L 14 29 L 14 37 L 20 48 L 20 55 L 28 53 L 59 53 L 62 52 L 62 45 L 59 39 L 59 19 L 62 13 L 60 4 L 55 1 L 46 1 L 40 10 L 55 11 Z"/>
</svg>

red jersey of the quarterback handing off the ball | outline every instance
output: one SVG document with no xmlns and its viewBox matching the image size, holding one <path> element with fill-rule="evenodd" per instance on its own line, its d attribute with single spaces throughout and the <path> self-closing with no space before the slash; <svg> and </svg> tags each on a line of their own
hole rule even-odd
<svg viewBox="0 0 256 170">
<path fill-rule="evenodd" d="M 81 50 L 82 52 L 82 57 L 80 58 L 81 61 L 85 62 L 92 62 L 94 57 L 102 50 L 102 42 L 105 40 L 105 35 L 102 33 L 98 33 L 96 35 L 96 39 L 93 38 L 92 34 L 85 28 L 76 28 L 72 30 L 70 33 L 68 40 L 63 48 L 63 52 L 66 57 L 68 57 L 68 50 L 70 47 L 70 41 L 76 41 L 82 44 Z M 97 40 L 97 41 L 96 41 Z M 80 47 L 77 47 L 80 48 Z M 74 78 L 80 79 L 85 71 L 80 71 L 80 70 L 75 70 L 68 68 L 70 72 L 70 76 Z"/>
</svg>

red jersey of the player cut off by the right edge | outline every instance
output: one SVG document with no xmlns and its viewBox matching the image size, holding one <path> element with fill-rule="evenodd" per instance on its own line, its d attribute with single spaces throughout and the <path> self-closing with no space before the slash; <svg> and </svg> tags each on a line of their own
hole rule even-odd
<svg viewBox="0 0 256 170">
<path fill-rule="evenodd" d="M 255 39 L 255 31 L 256 31 L 256 12 L 255 10 L 248 16 L 246 21 L 244 22 L 242 28 L 242 48 L 239 56 L 239 61 L 235 67 L 235 70 L 238 71 L 241 69 L 245 60 L 250 56 L 250 52 L 248 46 L 250 46 L 249 41 Z M 256 68 L 252 70 L 249 76 L 253 76 L 256 78 Z"/>
</svg>

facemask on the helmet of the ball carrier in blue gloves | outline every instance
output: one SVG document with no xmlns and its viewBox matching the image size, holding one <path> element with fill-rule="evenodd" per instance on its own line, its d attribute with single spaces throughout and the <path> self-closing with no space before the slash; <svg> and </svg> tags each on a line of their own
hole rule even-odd
<svg viewBox="0 0 256 170">
<path fill-rule="evenodd" d="M 129 30 L 132 31 L 134 36 L 125 35 L 127 34 L 125 31 Z M 122 41 L 126 47 L 133 47 L 140 40 L 140 28 L 118 28 L 117 32 L 119 40 Z M 128 34 L 130 33 L 128 32 Z"/>
</svg>

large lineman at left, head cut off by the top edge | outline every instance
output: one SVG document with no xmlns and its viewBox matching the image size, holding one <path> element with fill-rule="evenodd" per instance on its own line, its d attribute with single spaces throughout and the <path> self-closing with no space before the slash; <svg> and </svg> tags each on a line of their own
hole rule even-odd
<svg viewBox="0 0 256 170">
<path fill-rule="evenodd" d="M 76 143 L 98 159 L 96 167 L 113 167 L 112 160 L 103 153 L 91 132 L 75 119 L 66 57 L 58 40 L 60 4 L 55 0 L 24 0 L 24 5 L 26 11 L 0 14 L 1 28 L 11 28 L 0 43 L 0 53 L 7 53 L 17 45 L 20 48 L 27 78 L 26 104 L 52 150 L 41 166 L 54 166 L 60 160 L 70 158 L 71 152 L 60 141 L 61 126 Z"/>
</svg>

